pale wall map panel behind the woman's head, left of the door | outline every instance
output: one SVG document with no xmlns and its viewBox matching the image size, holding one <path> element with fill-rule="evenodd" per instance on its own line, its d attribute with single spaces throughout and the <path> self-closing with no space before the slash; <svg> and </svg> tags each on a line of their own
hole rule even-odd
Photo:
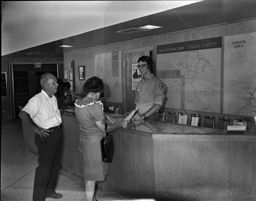
<svg viewBox="0 0 256 201">
<path fill-rule="evenodd" d="M 123 103 L 122 100 L 122 51 L 94 55 L 95 76 L 104 82 L 102 100 Z"/>
</svg>

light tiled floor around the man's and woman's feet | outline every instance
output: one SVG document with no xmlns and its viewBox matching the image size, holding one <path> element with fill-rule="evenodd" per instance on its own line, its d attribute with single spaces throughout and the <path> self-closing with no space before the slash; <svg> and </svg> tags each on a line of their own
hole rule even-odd
<svg viewBox="0 0 256 201">
<path fill-rule="evenodd" d="M 37 159 L 26 152 L 22 123 L 20 119 L 1 123 L 1 201 L 32 200 L 33 182 Z M 63 174 L 59 174 L 56 192 L 63 194 L 60 199 L 46 201 L 85 200 L 84 187 Z M 98 201 L 112 199 L 96 192 Z"/>
</svg>

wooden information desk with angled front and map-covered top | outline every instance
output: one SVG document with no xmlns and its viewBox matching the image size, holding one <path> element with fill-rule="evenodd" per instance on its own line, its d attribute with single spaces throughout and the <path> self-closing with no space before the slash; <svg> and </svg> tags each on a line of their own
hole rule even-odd
<svg viewBox="0 0 256 201">
<path fill-rule="evenodd" d="M 111 116 L 117 121 L 125 118 Z M 60 171 L 84 185 L 77 120 L 73 112 L 64 111 L 62 118 L 65 144 Z M 26 135 L 31 133 L 24 130 Z M 227 134 L 223 130 L 141 120 L 112 135 L 113 162 L 106 181 L 97 183 L 96 188 L 113 200 L 256 198 L 255 133 Z"/>
</svg>

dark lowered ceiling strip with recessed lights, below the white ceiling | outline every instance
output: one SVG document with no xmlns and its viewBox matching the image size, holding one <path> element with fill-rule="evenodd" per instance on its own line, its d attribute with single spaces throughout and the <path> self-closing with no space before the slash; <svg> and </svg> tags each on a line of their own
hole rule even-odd
<svg viewBox="0 0 256 201">
<path fill-rule="evenodd" d="M 2 58 L 14 55 L 24 56 L 29 52 L 48 52 L 48 55 L 51 56 L 63 56 L 63 53 L 74 50 L 132 41 L 134 39 L 169 34 L 200 27 L 246 21 L 251 18 L 256 18 L 256 12 L 254 12 L 253 9 L 255 7 L 256 1 L 252 0 L 203 1 L 67 37 L 55 42 L 5 55 L 2 56 Z M 163 28 L 133 34 L 115 33 L 119 30 L 141 27 L 148 24 L 162 26 Z M 73 45 L 74 47 L 58 47 L 64 44 Z M 38 55 L 38 57 L 41 56 L 45 57 L 47 55 L 46 53 L 44 55 Z"/>
</svg>

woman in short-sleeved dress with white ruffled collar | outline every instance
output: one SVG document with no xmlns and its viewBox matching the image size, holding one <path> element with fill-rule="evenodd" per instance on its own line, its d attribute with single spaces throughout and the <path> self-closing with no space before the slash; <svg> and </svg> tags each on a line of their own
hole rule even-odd
<svg viewBox="0 0 256 201">
<path fill-rule="evenodd" d="M 102 162 L 101 139 L 105 134 L 105 117 L 103 103 L 97 100 L 104 90 L 103 81 L 99 77 L 91 77 L 83 85 L 85 97 L 75 102 L 75 116 L 80 129 L 79 151 L 84 169 L 85 192 L 87 201 L 93 201 L 96 181 L 105 180 L 108 164 Z M 113 123 L 114 119 L 107 116 Z M 109 122 L 107 122 L 109 123 Z M 128 121 L 108 124 L 107 132 L 127 127 Z"/>
</svg>

